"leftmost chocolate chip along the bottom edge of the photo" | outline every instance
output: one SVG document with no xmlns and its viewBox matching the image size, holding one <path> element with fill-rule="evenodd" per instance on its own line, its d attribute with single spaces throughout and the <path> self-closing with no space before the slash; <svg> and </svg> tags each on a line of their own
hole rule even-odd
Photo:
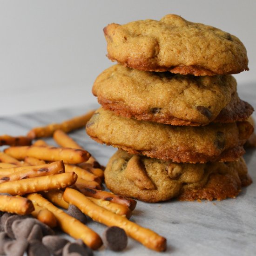
<svg viewBox="0 0 256 256">
<path fill-rule="evenodd" d="M 7 256 L 23 256 L 26 252 L 28 242 L 24 238 L 5 243 L 4 252 Z"/>
</svg>

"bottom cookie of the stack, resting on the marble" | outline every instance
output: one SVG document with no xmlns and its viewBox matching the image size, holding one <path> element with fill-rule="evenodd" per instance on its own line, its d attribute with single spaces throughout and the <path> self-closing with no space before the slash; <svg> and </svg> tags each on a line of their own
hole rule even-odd
<svg viewBox="0 0 256 256">
<path fill-rule="evenodd" d="M 107 164 L 105 182 L 115 194 L 145 202 L 175 197 L 211 201 L 236 197 L 251 179 L 243 158 L 233 162 L 174 163 L 118 150 Z"/>
</svg>

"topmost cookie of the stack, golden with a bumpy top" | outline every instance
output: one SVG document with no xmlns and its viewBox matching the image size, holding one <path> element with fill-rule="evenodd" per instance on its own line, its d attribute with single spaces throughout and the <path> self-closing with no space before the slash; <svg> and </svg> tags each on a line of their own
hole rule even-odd
<svg viewBox="0 0 256 256">
<path fill-rule="evenodd" d="M 108 58 L 144 71 L 237 74 L 249 70 L 246 49 L 234 35 L 168 14 L 104 28 Z"/>
</svg>

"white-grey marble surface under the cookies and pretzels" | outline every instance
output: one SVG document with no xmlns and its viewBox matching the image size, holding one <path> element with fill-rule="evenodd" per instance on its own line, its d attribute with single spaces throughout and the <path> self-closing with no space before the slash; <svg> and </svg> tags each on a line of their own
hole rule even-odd
<svg viewBox="0 0 256 256">
<path fill-rule="evenodd" d="M 244 86 L 240 95 L 256 108 L 255 85 Z M 2 117 L 0 134 L 25 135 L 32 127 L 63 121 L 97 106 L 97 104 L 88 104 L 78 108 Z M 91 140 L 84 129 L 70 135 L 104 165 L 116 150 Z M 51 139 L 48 142 L 54 143 Z M 247 152 L 245 160 L 254 183 L 243 188 L 236 199 L 221 202 L 175 200 L 152 204 L 138 202 L 131 220 L 165 236 L 168 249 L 165 253 L 156 253 L 129 239 L 128 247 L 121 255 L 254 256 L 256 253 L 256 150 Z M 89 222 L 88 226 L 100 235 L 105 229 L 96 222 Z M 120 253 L 102 247 L 95 252 L 95 255 L 112 256 Z"/>
</svg>

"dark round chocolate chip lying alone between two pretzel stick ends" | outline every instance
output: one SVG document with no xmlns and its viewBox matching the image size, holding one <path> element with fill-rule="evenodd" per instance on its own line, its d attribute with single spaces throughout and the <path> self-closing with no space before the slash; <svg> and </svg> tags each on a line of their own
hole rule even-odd
<svg viewBox="0 0 256 256">
<path fill-rule="evenodd" d="M 128 243 L 125 231 L 115 226 L 105 229 L 102 240 L 104 245 L 113 251 L 125 249 Z"/>
</svg>

